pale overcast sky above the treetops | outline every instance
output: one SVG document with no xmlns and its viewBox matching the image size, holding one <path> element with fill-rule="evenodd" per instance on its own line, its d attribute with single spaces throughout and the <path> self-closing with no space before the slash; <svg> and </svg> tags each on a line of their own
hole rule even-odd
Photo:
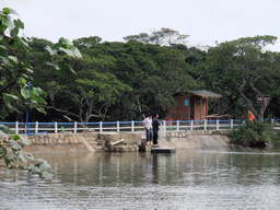
<svg viewBox="0 0 280 210">
<path fill-rule="evenodd" d="M 89 36 L 124 42 L 162 27 L 190 35 L 187 45 L 197 47 L 256 35 L 280 38 L 280 0 L 0 0 L 0 5 L 20 14 L 24 35 L 52 43 Z M 280 51 L 280 40 L 268 49 Z"/>
</svg>

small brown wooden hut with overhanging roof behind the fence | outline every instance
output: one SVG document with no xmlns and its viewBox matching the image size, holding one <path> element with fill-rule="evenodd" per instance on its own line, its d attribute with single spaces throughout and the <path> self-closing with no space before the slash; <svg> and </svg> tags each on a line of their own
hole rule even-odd
<svg viewBox="0 0 280 210">
<path fill-rule="evenodd" d="M 208 119 L 209 98 L 219 98 L 222 95 L 209 91 L 178 92 L 172 95 L 177 105 L 167 112 L 173 120 L 205 120 Z M 219 109 L 219 108 L 218 108 Z M 219 112 L 219 110 L 218 110 Z M 213 116 L 213 115 L 211 115 Z M 219 116 L 219 115 L 215 115 Z"/>
</svg>

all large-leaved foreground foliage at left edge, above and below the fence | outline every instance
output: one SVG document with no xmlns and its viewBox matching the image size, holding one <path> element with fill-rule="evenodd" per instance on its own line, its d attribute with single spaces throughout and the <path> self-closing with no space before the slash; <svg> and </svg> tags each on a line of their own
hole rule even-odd
<svg viewBox="0 0 280 210">
<path fill-rule="evenodd" d="M 13 20 L 12 14 L 19 15 L 14 10 L 4 8 L 0 11 L 0 118 L 4 119 L 10 113 L 28 109 L 37 109 L 45 113 L 42 105 L 46 104 L 46 93 L 36 84 L 39 83 L 40 68 L 55 68 L 58 73 L 71 72 L 70 66 L 66 62 L 67 57 L 81 57 L 79 50 L 71 42 L 60 38 L 56 45 L 47 46 L 48 55 L 38 58 L 38 67 L 33 67 L 30 60 L 31 47 L 28 38 L 20 37 L 20 30 L 24 30 L 21 20 Z M 58 57 L 63 59 L 56 62 Z M 21 109 L 20 109 L 21 108 Z M 46 170 L 49 168 L 45 160 L 34 160 L 32 155 L 21 152 L 28 140 L 21 135 L 14 135 L 4 126 L 0 126 L 0 160 L 3 160 L 7 168 L 23 168 L 15 163 L 18 160 L 35 162 L 30 164 L 27 170 L 38 174 L 40 177 L 50 178 Z M 4 131 L 4 132 L 3 132 Z M 7 135 L 8 133 L 8 135 Z"/>
</svg>

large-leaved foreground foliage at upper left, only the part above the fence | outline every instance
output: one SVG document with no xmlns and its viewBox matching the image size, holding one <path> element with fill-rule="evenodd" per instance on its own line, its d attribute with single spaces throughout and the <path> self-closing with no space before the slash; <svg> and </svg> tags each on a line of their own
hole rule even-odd
<svg viewBox="0 0 280 210">
<path fill-rule="evenodd" d="M 24 30 L 21 20 L 12 20 L 10 14 L 18 13 L 9 8 L 4 8 L 0 13 L 0 118 L 4 119 L 9 113 L 27 112 L 35 108 L 45 113 L 42 105 L 46 105 L 44 97 L 46 93 L 34 80 L 40 78 L 36 72 L 37 67 L 33 67 L 30 60 L 32 48 L 25 37 L 20 37 L 20 30 Z M 40 67 L 55 67 L 58 73 L 67 74 L 72 72 L 67 63 L 67 57 L 81 58 L 80 51 L 71 42 L 60 38 L 58 44 L 47 46 L 48 55 L 39 58 Z M 65 60 L 56 62 L 59 57 Z M 31 82 L 27 82 L 31 81 Z"/>
</svg>

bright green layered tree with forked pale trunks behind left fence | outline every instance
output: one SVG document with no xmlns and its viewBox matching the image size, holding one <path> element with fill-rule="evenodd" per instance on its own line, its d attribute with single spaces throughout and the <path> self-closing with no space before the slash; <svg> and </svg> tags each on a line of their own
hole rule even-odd
<svg viewBox="0 0 280 210">
<path fill-rule="evenodd" d="M 48 81 L 43 86 L 50 100 L 48 110 L 73 116 L 77 120 L 109 119 L 108 112 L 119 101 L 122 92 L 131 89 L 121 83 L 113 74 L 116 59 L 107 55 L 102 44 L 95 43 L 96 37 L 79 38 L 73 43 L 81 47 L 83 58 L 69 60 L 77 72 L 74 77 L 56 77 L 40 69 Z"/>
</svg>

